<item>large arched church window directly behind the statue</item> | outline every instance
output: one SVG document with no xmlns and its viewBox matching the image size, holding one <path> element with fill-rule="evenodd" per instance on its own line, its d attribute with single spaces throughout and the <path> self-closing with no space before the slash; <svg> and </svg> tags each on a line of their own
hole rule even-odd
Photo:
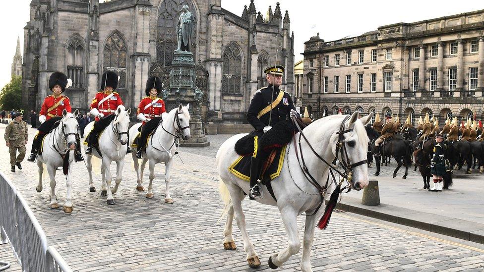
<svg viewBox="0 0 484 272">
<path fill-rule="evenodd" d="M 193 17 L 198 18 L 198 13 L 192 0 L 165 0 L 162 1 L 158 10 L 158 38 L 156 45 L 156 62 L 162 67 L 172 66 L 173 53 L 178 48 L 177 24 L 180 10 L 183 5 L 188 5 L 188 11 Z M 196 37 L 196 30 L 193 34 Z M 195 40 L 195 38 L 194 38 Z M 193 41 L 196 43 L 196 41 Z M 195 55 L 195 46 L 191 51 Z"/>
</svg>

